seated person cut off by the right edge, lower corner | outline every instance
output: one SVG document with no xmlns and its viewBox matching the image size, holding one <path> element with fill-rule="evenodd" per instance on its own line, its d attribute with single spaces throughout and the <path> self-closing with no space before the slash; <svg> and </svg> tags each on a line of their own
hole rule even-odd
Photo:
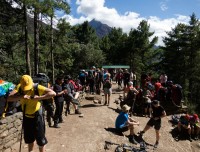
<svg viewBox="0 0 200 152">
<path fill-rule="evenodd" d="M 199 139 L 199 132 L 200 132 L 200 121 L 199 121 L 199 117 L 197 114 L 193 114 L 192 116 L 190 116 L 190 126 L 191 126 L 191 134 L 194 137 L 194 140 L 198 140 Z"/>
</svg>

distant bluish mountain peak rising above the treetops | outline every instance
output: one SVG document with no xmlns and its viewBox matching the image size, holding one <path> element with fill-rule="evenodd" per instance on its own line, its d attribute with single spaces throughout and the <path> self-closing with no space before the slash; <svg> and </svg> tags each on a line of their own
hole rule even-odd
<svg viewBox="0 0 200 152">
<path fill-rule="evenodd" d="M 91 20 L 89 25 L 95 29 L 97 36 L 100 38 L 108 35 L 112 30 L 112 28 L 107 24 L 103 24 L 95 19 Z"/>
</svg>

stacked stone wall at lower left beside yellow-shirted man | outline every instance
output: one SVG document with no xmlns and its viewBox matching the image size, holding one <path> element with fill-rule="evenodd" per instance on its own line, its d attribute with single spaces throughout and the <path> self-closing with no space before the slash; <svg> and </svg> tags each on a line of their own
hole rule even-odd
<svg viewBox="0 0 200 152">
<path fill-rule="evenodd" d="M 0 120 L 0 151 L 8 151 L 20 141 L 22 130 L 22 113 L 7 116 Z"/>
</svg>

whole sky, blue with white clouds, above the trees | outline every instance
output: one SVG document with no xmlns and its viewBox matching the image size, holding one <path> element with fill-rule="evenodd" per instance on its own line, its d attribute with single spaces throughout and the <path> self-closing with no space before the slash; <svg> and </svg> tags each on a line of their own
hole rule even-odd
<svg viewBox="0 0 200 152">
<path fill-rule="evenodd" d="M 128 33 L 137 28 L 140 21 L 147 20 L 154 36 L 162 37 L 178 23 L 187 24 L 190 15 L 200 15 L 200 0 L 67 0 L 71 13 L 57 13 L 71 25 L 96 19 L 110 27 L 120 27 Z"/>
</svg>

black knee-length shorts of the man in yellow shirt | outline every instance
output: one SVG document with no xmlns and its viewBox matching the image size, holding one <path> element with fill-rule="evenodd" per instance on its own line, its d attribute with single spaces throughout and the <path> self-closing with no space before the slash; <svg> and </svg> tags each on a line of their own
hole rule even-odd
<svg viewBox="0 0 200 152">
<path fill-rule="evenodd" d="M 27 144 L 33 143 L 35 140 L 39 146 L 47 144 L 45 137 L 45 122 L 41 114 L 36 114 L 35 118 L 23 118 L 24 141 Z"/>
</svg>

